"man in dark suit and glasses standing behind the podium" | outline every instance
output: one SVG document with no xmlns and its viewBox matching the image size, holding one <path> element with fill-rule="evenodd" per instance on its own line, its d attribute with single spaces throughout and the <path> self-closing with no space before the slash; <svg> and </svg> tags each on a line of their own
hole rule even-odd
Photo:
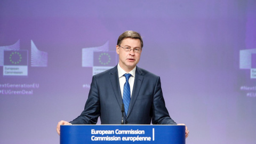
<svg viewBox="0 0 256 144">
<path fill-rule="evenodd" d="M 143 41 L 139 33 L 125 31 L 119 36 L 116 53 L 119 63 L 92 78 L 91 89 L 84 110 L 73 121 L 65 124 L 121 124 L 124 105 L 125 124 L 174 124 L 165 107 L 159 76 L 137 67 Z M 184 124 L 179 124 L 184 125 Z M 186 138 L 188 137 L 186 126 Z"/>
</svg>

